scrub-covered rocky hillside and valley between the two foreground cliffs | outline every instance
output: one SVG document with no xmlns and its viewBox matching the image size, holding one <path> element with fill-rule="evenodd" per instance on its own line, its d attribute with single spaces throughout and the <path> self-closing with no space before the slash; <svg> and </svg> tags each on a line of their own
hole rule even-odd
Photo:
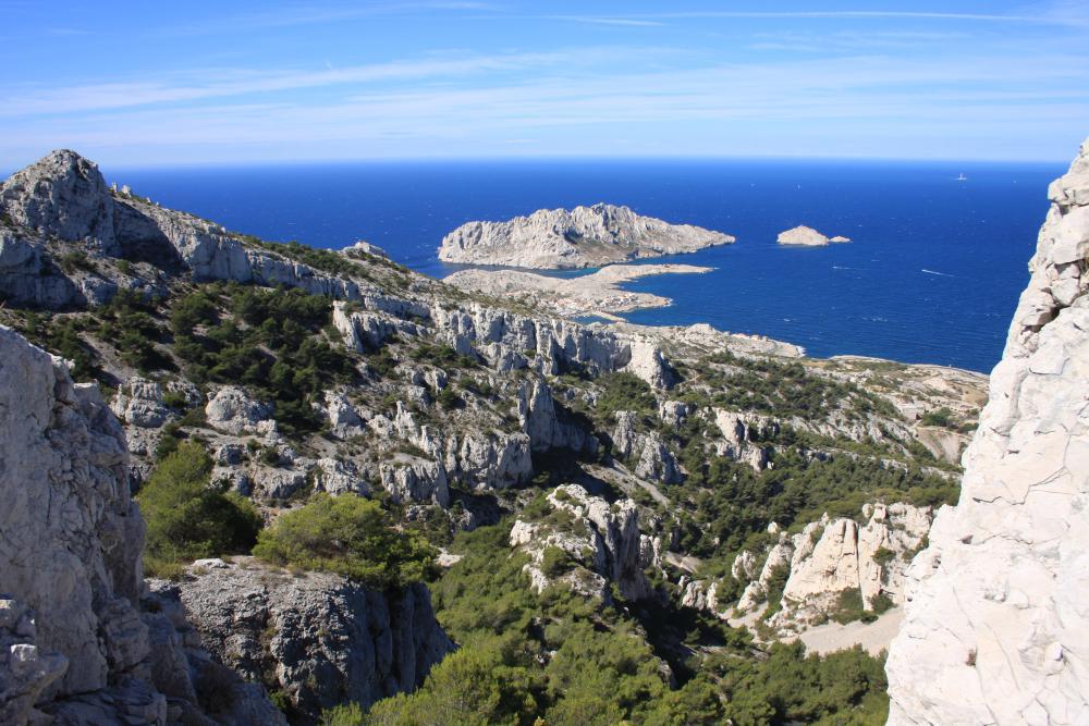
<svg viewBox="0 0 1089 726">
<path fill-rule="evenodd" d="M 194 682 L 303 724 L 884 719 L 867 628 L 957 500 L 983 377 L 583 325 L 376 253 L 231 232 L 71 151 L 0 187 L 0 323 L 123 427 L 125 602 L 172 614 Z M 148 678 L 175 721 L 235 703 Z"/>
</svg>

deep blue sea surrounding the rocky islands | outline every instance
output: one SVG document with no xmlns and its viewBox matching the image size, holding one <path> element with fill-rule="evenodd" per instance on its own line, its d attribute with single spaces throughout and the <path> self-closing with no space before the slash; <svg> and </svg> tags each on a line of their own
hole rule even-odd
<svg viewBox="0 0 1089 726">
<path fill-rule="evenodd" d="M 383 162 L 105 170 L 163 206 L 258 236 L 364 238 L 435 276 L 469 220 L 608 201 L 737 237 L 665 258 L 717 268 L 631 284 L 672 307 L 634 322 L 708 322 L 806 347 L 988 372 L 1002 354 L 1061 164 L 833 161 Z M 958 174 L 967 182 L 957 182 Z M 851 244 L 782 247 L 807 224 Z"/>
</svg>

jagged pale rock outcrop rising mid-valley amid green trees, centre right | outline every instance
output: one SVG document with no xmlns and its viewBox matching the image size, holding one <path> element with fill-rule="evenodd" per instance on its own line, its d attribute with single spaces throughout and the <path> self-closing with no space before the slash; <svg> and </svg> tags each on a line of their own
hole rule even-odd
<svg viewBox="0 0 1089 726">
<path fill-rule="evenodd" d="M 537 592 L 562 582 L 575 592 L 608 600 L 609 585 L 614 582 L 628 600 L 650 596 L 635 502 L 610 505 L 577 484 L 558 487 L 548 502 L 567 517 L 517 519 L 510 537 L 512 547 L 529 554 L 524 570 Z"/>
</svg>

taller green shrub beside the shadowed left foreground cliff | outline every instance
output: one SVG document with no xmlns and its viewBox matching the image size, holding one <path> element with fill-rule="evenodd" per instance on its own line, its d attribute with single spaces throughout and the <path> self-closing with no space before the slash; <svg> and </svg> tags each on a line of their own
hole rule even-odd
<svg viewBox="0 0 1089 726">
<path fill-rule="evenodd" d="M 211 467 L 203 446 L 181 443 L 137 494 L 147 521 L 149 575 L 200 557 L 246 553 L 256 541 L 260 515 L 248 500 L 209 487 Z"/>
</svg>

